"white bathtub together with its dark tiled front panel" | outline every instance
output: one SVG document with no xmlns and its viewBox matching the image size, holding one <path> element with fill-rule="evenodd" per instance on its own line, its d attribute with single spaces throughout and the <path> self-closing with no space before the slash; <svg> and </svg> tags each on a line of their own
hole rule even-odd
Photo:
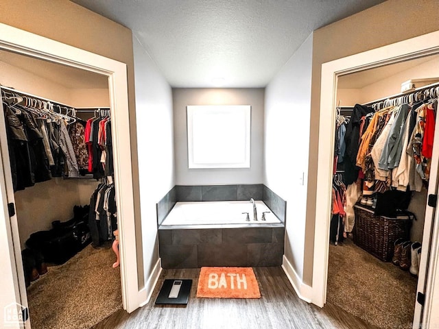
<svg viewBox="0 0 439 329">
<path fill-rule="evenodd" d="M 257 201 L 258 221 L 248 201 L 177 202 L 158 226 L 158 252 L 164 269 L 203 266 L 280 266 L 285 225 Z M 246 221 L 248 212 L 250 221 Z"/>
</svg>

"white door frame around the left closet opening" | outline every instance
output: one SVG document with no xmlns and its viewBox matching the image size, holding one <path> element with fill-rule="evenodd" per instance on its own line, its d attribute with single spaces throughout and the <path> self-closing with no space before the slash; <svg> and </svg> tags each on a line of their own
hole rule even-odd
<svg viewBox="0 0 439 329">
<path fill-rule="evenodd" d="M 56 62 L 67 66 L 73 66 L 78 69 L 91 71 L 106 75 L 108 77 L 108 88 L 110 93 L 110 112 L 112 117 L 112 136 L 113 136 L 113 154 L 115 169 L 115 186 L 117 201 L 117 217 L 119 223 L 119 251 L 121 254 L 121 291 L 123 308 L 132 312 L 145 304 L 147 293 L 145 289 L 139 289 L 138 280 L 139 271 L 137 268 L 137 248 L 134 223 L 134 193 L 132 184 L 132 167 L 131 167 L 131 143 L 130 143 L 130 123 L 128 110 L 128 80 L 126 64 L 99 56 L 89 51 L 84 51 L 62 42 L 51 40 L 43 36 L 38 36 L 21 29 L 11 27 L 0 23 L 0 49 L 13 51 L 25 56 Z M 1 141 L 2 144 L 4 141 Z M 1 145 L 2 149 L 4 145 Z M 7 145 L 6 145 L 7 149 Z M 0 173 L 4 176 L 5 181 L 10 182 L 12 178 L 7 174 L 8 166 L 5 162 L 0 163 Z M 13 191 L 3 191 L 3 184 L 0 191 L 0 197 L 5 202 L 14 200 Z M 6 184 L 8 186 L 8 183 Z M 0 206 L 0 211 L 2 210 Z M 8 222 L 5 217 L 5 222 Z M 19 240 L 12 239 L 18 236 L 18 226 L 16 217 L 10 219 L 12 236 L 8 236 L 8 245 L 14 248 L 14 254 L 10 255 L 10 264 L 12 265 L 14 278 L 15 296 L 26 293 L 23 286 L 23 265 L 21 264 L 21 250 Z M 16 231 L 16 232 L 15 232 Z M 0 234 L 2 234 L 0 230 Z M 3 241 L 2 241 L 3 243 Z M 13 265 L 16 265 L 15 267 Z M 3 264 L 2 264 L 3 266 Z M 109 270 L 112 270 L 109 265 Z M 141 278 L 143 280 L 143 278 Z M 21 282 L 23 281 L 23 282 Z M 17 283 L 18 282 L 18 283 Z M 19 284 L 21 282 L 21 284 Z M 24 287 L 24 288 L 23 288 Z M 18 291 L 17 291 L 18 289 Z M 17 297 L 10 295 L 10 300 Z M 3 310 L 1 310 L 3 311 Z"/>
</svg>

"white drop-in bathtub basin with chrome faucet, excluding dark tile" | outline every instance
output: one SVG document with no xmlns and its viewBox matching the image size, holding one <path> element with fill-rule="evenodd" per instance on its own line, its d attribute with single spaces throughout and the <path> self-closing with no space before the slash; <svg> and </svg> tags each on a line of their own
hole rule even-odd
<svg viewBox="0 0 439 329">
<path fill-rule="evenodd" d="M 262 201 L 256 201 L 255 204 L 257 221 L 253 220 L 250 201 L 177 202 L 161 226 L 281 223 Z M 248 212 L 250 221 L 246 221 L 243 212 Z M 263 212 L 267 212 L 265 221 L 261 221 Z"/>
</svg>

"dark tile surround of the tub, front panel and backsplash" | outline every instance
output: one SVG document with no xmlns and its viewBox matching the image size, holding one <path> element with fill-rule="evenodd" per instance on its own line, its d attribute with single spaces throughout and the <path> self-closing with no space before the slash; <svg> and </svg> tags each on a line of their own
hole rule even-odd
<svg viewBox="0 0 439 329">
<path fill-rule="evenodd" d="M 281 223 L 162 226 L 176 202 L 263 202 Z M 278 266 L 282 264 L 286 202 L 263 184 L 181 186 L 157 204 L 158 242 L 162 267 Z M 252 213 L 250 213 L 252 219 Z"/>
</svg>

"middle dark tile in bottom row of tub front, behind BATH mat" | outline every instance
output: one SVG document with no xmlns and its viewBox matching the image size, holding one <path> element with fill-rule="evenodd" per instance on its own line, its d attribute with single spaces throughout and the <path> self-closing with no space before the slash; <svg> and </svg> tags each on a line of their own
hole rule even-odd
<svg viewBox="0 0 439 329">
<path fill-rule="evenodd" d="M 199 245 L 198 267 L 248 266 L 247 246 L 240 243 Z"/>
</svg>

